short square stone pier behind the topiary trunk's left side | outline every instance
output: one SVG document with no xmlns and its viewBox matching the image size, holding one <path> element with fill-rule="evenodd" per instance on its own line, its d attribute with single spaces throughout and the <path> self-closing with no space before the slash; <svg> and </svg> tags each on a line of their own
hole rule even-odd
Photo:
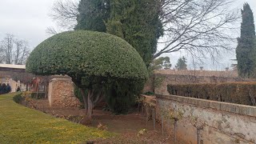
<svg viewBox="0 0 256 144">
<path fill-rule="evenodd" d="M 48 100 L 50 106 L 78 107 L 80 102 L 74 96 L 74 85 L 71 78 L 66 76 L 53 76 L 49 83 Z"/>
</svg>

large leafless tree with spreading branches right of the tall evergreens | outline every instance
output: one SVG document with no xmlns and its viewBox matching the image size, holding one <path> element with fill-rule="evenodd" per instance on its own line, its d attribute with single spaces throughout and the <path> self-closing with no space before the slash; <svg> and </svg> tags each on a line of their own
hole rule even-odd
<svg viewBox="0 0 256 144">
<path fill-rule="evenodd" d="M 198 59 L 216 58 L 220 50 L 230 50 L 236 42 L 234 22 L 239 18 L 228 7 L 231 4 L 231 0 L 162 0 L 164 37 L 159 43 L 164 46 L 154 58 L 179 50 Z"/>
</svg>

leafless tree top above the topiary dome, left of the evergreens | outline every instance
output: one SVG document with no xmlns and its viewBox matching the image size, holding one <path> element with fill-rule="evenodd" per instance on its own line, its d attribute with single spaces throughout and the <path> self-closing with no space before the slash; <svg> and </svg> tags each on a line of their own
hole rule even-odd
<svg viewBox="0 0 256 144">
<path fill-rule="evenodd" d="M 54 3 L 50 17 L 65 30 L 73 30 L 77 24 L 78 2 L 71 0 L 58 0 Z M 48 32 L 57 32 L 53 28 L 48 28 Z"/>
</svg>

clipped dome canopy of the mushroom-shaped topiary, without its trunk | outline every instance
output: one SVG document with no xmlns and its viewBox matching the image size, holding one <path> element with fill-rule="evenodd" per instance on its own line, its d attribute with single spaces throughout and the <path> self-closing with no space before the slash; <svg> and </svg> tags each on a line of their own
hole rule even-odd
<svg viewBox="0 0 256 144">
<path fill-rule="evenodd" d="M 26 70 L 41 75 L 147 78 L 142 58 L 128 42 L 86 30 L 63 32 L 46 39 L 31 52 Z"/>
</svg>

